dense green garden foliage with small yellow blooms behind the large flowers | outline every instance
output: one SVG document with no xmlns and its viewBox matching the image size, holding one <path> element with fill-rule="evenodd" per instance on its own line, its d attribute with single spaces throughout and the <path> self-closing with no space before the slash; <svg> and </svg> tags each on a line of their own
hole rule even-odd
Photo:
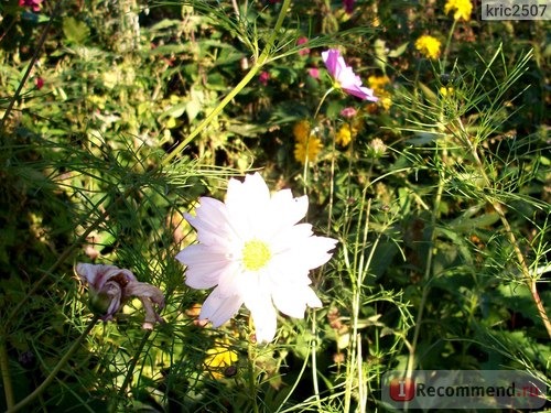
<svg viewBox="0 0 551 413">
<path fill-rule="evenodd" d="M 328 48 L 378 102 L 326 95 Z M 550 58 L 549 22 L 469 1 L 3 1 L 0 409 L 375 411 L 413 369 L 549 384 Z M 324 307 L 262 346 L 245 308 L 198 325 L 174 259 L 197 197 L 253 170 L 339 241 Z M 97 323 L 77 262 L 161 289 L 165 323 L 138 300 Z"/>
</svg>

